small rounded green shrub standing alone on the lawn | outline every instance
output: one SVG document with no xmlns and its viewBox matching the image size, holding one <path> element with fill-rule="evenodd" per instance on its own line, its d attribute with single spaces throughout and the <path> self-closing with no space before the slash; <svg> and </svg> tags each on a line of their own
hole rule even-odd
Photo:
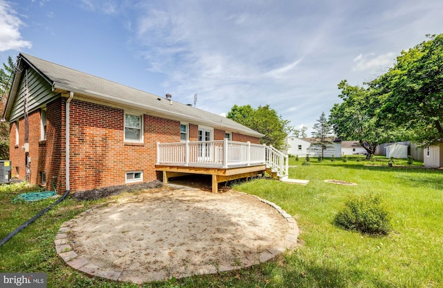
<svg viewBox="0 0 443 288">
<path fill-rule="evenodd" d="M 334 217 L 334 224 L 371 235 L 387 235 L 391 230 L 390 215 L 379 195 L 351 197 Z"/>
</svg>

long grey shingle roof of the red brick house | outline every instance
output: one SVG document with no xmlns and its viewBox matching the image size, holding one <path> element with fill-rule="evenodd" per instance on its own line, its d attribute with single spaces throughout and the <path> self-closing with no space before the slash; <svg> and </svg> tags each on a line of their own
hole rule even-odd
<svg viewBox="0 0 443 288">
<path fill-rule="evenodd" d="M 82 98 L 114 105 L 118 104 L 121 107 L 142 109 L 154 116 L 189 121 L 197 125 L 208 125 L 228 132 L 237 132 L 255 137 L 264 136 L 226 117 L 175 102 L 174 100 L 170 101 L 164 97 L 48 62 L 32 55 L 20 53 L 19 60 L 21 66 L 28 65 L 35 69 L 37 73 L 51 84 L 53 91 L 56 92 L 73 92 Z M 10 97 L 3 114 L 3 118 L 6 118 L 6 120 L 9 120 L 10 111 L 15 101 L 15 96 L 17 96 L 20 74 L 20 72 L 16 73 L 15 80 L 12 83 Z"/>
</svg>

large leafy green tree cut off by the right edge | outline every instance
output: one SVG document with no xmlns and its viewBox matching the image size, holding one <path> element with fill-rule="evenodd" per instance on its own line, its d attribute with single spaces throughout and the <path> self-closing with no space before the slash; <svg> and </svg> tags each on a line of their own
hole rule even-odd
<svg viewBox="0 0 443 288">
<path fill-rule="evenodd" d="M 370 82 L 382 106 L 379 117 L 412 130 L 423 145 L 443 139 L 443 34 L 402 51 L 387 73 Z"/>
</svg>

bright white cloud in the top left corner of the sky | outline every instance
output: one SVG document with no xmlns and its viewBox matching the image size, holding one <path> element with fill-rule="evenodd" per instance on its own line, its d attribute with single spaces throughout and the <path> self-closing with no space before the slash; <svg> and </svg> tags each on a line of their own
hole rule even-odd
<svg viewBox="0 0 443 288">
<path fill-rule="evenodd" d="M 23 22 L 6 1 L 0 0 L 0 52 L 30 48 L 31 42 L 21 39 L 19 31 Z"/>
</svg>

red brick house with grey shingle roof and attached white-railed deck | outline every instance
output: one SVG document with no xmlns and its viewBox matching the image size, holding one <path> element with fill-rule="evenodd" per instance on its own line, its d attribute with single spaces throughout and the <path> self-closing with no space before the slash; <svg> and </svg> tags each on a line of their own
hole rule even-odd
<svg viewBox="0 0 443 288">
<path fill-rule="evenodd" d="M 212 174 L 217 190 L 264 172 L 263 135 L 253 129 L 23 53 L 3 118 L 12 174 L 48 190 L 52 181 L 75 192 L 188 170 Z"/>
</svg>

